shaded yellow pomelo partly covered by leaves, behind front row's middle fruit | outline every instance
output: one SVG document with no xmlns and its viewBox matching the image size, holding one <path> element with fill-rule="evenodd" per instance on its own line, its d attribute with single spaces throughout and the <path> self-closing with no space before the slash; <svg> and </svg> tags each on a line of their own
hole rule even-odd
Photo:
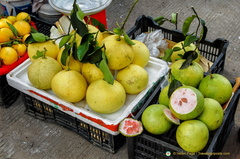
<svg viewBox="0 0 240 159">
<path fill-rule="evenodd" d="M 83 64 L 80 61 L 75 60 L 73 58 L 73 56 L 67 58 L 66 66 L 61 63 L 61 57 L 62 57 L 63 50 L 64 50 L 64 48 L 60 49 L 58 56 L 57 56 L 57 61 L 61 64 L 62 68 L 81 72 Z"/>
</svg>

